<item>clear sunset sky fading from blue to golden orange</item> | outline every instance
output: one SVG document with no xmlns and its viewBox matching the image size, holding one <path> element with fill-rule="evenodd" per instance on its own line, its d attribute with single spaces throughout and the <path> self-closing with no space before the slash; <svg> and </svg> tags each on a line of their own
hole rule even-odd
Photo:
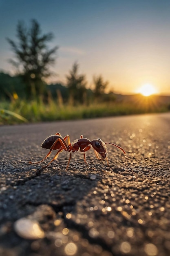
<svg viewBox="0 0 170 256">
<path fill-rule="evenodd" d="M 6 38 L 16 39 L 18 20 L 53 32 L 59 46 L 53 81 L 65 81 L 75 61 L 109 88 L 133 94 L 146 84 L 170 95 L 170 0 L 0 0 L 0 70 L 13 72 Z"/>
</svg>

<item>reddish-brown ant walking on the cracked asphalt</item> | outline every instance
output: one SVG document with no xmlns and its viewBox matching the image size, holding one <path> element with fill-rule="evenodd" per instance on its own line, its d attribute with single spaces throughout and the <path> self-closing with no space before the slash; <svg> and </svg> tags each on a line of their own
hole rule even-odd
<svg viewBox="0 0 170 256">
<path fill-rule="evenodd" d="M 66 139 L 67 139 L 67 144 L 66 144 Z M 121 148 L 120 146 L 117 146 L 113 143 L 110 142 L 106 142 L 104 143 L 101 139 L 93 139 L 92 141 L 90 141 L 89 139 L 83 138 L 83 135 L 80 136 L 80 139 L 75 140 L 74 142 L 70 142 L 70 136 L 66 135 L 64 138 L 61 136 L 61 134 L 59 132 L 55 133 L 55 135 L 51 135 L 48 138 L 46 138 L 43 142 L 41 147 L 42 148 L 46 148 L 49 149 L 49 153 L 39 162 L 33 163 L 33 162 L 29 162 L 30 164 L 39 164 L 42 161 L 44 161 L 51 153 L 52 150 L 57 150 L 57 153 L 55 154 L 55 156 L 53 157 L 53 159 L 49 162 L 49 164 L 51 164 L 51 162 L 53 162 L 55 159 L 57 159 L 58 154 L 60 152 L 62 152 L 62 150 L 68 151 L 70 152 L 70 157 L 68 160 L 68 164 L 66 167 L 66 170 L 68 169 L 70 160 L 71 160 L 71 153 L 77 152 L 80 148 L 80 151 L 84 153 L 84 162 L 86 164 L 88 164 L 86 162 L 86 151 L 88 151 L 89 149 L 91 149 L 91 146 L 93 147 L 94 151 L 95 151 L 95 155 L 97 157 L 97 159 L 102 160 L 102 159 L 106 159 L 107 164 L 108 164 L 108 158 L 107 158 L 107 153 L 106 153 L 106 144 L 111 144 L 113 146 L 116 146 L 117 148 L 120 148 L 124 154 L 125 151 L 123 148 Z M 91 145 L 91 146 L 90 146 Z M 99 157 L 98 153 L 102 156 L 102 159 Z M 42 168 L 46 168 L 47 166 L 49 166 L 49 164 L 43 166 Z"/>
</svg>

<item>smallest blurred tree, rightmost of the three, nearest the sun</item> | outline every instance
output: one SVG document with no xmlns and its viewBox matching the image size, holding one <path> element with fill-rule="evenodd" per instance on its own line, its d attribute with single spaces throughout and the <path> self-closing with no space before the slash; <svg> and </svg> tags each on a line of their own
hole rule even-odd
<svg viewBox="0 0 170 256">
<path fill-rule="evenodd" d="M 93 82 L 95 85 L 94 94 L 96 99 L 101 99 L 104 95 L 106 87 L 108 85 L 108 81 L 104 82 L 102 75 L 94 76 Z"/>
</svg>

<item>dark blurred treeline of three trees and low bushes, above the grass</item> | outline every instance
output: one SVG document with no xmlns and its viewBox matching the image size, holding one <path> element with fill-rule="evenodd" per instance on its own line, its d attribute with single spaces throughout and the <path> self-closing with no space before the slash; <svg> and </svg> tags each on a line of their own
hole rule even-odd
<svg viewBox="0 0 170 256">
<path fill-rule="evenodd" d="M 113 92 L 106 94 L 108 81 L 102 75 L 93 77 L 91 89 L 87 88 L 86 76 L 79 74 L 78 63 L 66 75 L 66 84 L 47 85 L 53 73 L 50 65 L 55 63 L 57 46 L 49 48 L 53 33 L 42 34 L 40 24 L 31 20 L 26 27 L 23 21 L 17 25 L 18 41 L 7 38 L 15 58 L 9 61 L 15 67 L 15 76 L 0 73 L 0 99 L 58 99 L 58 103 L 68 102 L 71 105 L 88 104 L 91 101 L 113 101 Z"/>
</svg>

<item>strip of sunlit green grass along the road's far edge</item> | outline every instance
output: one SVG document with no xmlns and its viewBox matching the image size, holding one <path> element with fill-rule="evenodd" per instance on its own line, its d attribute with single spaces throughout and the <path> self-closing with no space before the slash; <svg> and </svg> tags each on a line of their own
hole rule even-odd
<svg viewBox="0 0 170 256">
<path fill-rule="evenodd" d="M 0 124 L 86 119 L 166 111 L 168 111 L 166 105 L 158 106 L 157 104 L 146 104 L 146 102 L 91 103 L 88 106 L 60 104 L 59 106 L 57 101 L 53 99 L 49 99 L 47 103 L 44 103 L 41 98 L 32 101 L 17 99 L 0 102 Z"/>
</svg>

